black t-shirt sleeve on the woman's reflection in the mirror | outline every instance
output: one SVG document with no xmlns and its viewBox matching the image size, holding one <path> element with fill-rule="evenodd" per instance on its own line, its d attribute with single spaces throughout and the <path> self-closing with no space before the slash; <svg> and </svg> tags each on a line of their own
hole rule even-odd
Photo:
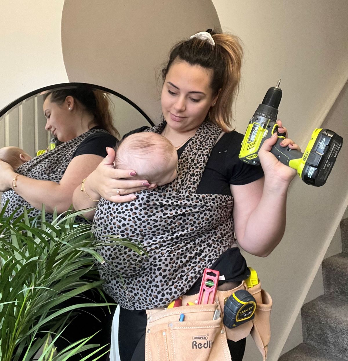
<svg viewBox="0 0 348 361">
<path fill-rule="evenodd" d="M 100 129 L 100 127 L 96 126 L 92 129 Z M 74 158 L 82 154 L 95 154 L 106 157 L 106 147 L 115 147 L 116 142 L 117 138 L 104 131 L 91 134 L 81 142 L 72 157 Z"/>
</svg>

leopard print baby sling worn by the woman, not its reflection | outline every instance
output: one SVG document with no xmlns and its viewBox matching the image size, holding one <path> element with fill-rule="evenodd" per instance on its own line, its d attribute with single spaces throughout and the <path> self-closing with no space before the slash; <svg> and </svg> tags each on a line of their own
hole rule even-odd
<svg viewBox="0 0 348 361">
<path fill-rule="evenodd" d="M 148 131 L 162 132 L 165 122 Z M 99 249 L 105 263 L 105 291 L 126 309 L 165 306 L 187 292 L 219 256 L 236 247 L 233 198 L 196 194 L 204 167 L 221 129 L 205 121 L 178 162 L 176 179 L 154 191 L 139 192 L 128 203 L 101 199 L 93 225 L 105 242 L 117 235 L 141 242 L 148 256 L 126 247 Z"/>
</svg>

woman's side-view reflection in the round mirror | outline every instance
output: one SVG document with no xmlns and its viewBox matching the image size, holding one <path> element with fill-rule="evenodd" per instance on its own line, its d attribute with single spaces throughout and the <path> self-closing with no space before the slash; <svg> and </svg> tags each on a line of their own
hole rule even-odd
<svg viewBox="0 0 348 361">
<path fill-rule="evenodd" d="M 9 202 L 6 215 L 20 206 L 15 213 L 17 216 L 26 206 L 34 207 L 29 215 L 36 216 L 44 204 L 46 221 L 51 221 L 55 208 L 58 214 L 70 208 L 74 189 L 106 156 L 106 147 L 116 144 L 118 132 L 113 126 L 109 102 L 100 91 L 72 88 L 52 91 L 44 96 L 45 129 L 63 143 L 44 155 L 32 158 L 16 172 L 8 163 L 0 161 L 0 191 L 3 192 L 1 205 Z M 79 219 L 85 221 L 82 217 Z M 85 296 L 95 298 L 92 293 Z M 99 297 L 96 301 L 104 303 Z M 80 303 L 80 300 L 75 300 L 75 303 Z M 74 304 L 74 300 L 70 299 L 60 306 L 69 304 Z M 114 312 L 114 308 L 111 309 Z M 108 318 L 108 313 L 106 307 L 94 308 L 93 315 L 83 313 L 82 317 L 71 321 L 62 337 L 74 342 L 93 335 L 102 325 L 102 332 L 92 342 L 103 345 L 110 343 L 112 316 Z M 80 332 L 76 332 L 76 327 Z M 56 343 L 59 350 L 67 345 L 69 342 L 63 338 Z M 80 359 L 80 356 L 76 358 Z"/>
</svg>

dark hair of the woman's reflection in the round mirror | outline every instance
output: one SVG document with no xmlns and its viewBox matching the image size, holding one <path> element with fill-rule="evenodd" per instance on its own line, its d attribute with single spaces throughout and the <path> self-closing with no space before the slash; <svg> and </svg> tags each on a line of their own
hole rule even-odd
<svg viewBox="0 0 348 361">
<path fill-rule="evenodd" d="M 113 118 L 109 109 L 110 101 L 101 90 L 92 90 L 84 87 L 54 90 L 44 94 L 44 99 L 49 95 L 51 96 L 50 101 L 59 105 L 64 103 L 67 96 L 72 96 L 78 101 L 78 105 L 94 116 L 94 121 L 98 126 L 107 130 L 116 138 L 119 137 L 119 132 L 113 125 Z"/>
</svg>

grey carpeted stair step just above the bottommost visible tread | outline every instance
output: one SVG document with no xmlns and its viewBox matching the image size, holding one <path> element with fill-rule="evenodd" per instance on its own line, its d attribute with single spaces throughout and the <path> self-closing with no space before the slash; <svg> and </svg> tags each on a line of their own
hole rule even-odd
<svg viewBox="0 0 348 361">
<path fill-rule="evenodd" d="M 301 314 L 303 342 L 348 361 L 348 303 L 323 295 L 304 304 Z"/>
</svg>

